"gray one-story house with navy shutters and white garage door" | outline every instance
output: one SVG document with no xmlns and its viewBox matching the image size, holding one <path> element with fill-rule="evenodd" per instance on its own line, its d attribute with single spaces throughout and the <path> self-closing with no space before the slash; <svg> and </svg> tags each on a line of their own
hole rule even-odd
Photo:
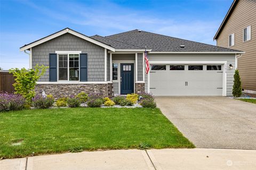
<svg viewBox="0 0 256 170">
<path fill-rule="evenodd" d="M 231 96 L 236 58 L 243 54 L 141 30 L 88 37 L 69 28 L 20 50 L 29 54 L 31 68 L 36 64 L 49 66 L 37 82 L 36 92 L 43 89 L 55 97 L 81 91 L 105 96 L 111 96 L 112 91 L 151 92 L 155 96 Z"/>
</svg>

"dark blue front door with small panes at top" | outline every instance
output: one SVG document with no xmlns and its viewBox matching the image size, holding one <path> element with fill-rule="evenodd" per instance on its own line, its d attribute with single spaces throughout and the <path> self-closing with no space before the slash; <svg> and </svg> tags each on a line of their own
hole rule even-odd
<svg viewBox="0 0 256 170">
<path fill-rule="evenodd" d="M 121 64 L 121 95 L 132 94 L 134 88 L 133 64 Z"/>
</svg>

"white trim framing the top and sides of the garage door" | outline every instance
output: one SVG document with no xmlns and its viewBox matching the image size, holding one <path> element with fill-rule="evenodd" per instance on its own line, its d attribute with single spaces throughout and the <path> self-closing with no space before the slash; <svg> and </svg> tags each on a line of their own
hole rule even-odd
<svg viewBox="0 0 256 170">
<path fill-rule="evenodd" d="M 150 71 L 151 64 L 222 64 L 223 76 L 222 76 L 222 96 L 227 96 L 227 61 L 149 61 L 148 72 L 148 93 L 150 92 Z"/>
</svg>

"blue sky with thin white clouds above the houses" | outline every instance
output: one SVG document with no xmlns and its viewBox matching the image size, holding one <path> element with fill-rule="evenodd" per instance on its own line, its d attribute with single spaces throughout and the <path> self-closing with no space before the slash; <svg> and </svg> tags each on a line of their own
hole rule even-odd
<svg viewBox="0 0 256 170">
<path fill-rule="evenodd" d="M 63 28 L 87 36 L 140 29 L 215 45 L 213 37 L 233 0 L 0 0 L 0 67 L 29 67 L 19 48 Z"/>
</svg>

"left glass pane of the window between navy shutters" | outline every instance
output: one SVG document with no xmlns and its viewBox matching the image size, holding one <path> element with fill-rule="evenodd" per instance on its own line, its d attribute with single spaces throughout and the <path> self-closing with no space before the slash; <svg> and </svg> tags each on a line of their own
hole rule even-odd
<svg viewBox="0 0 256 170">
<path fill-rule="evenodd" d="M 59 80 L 68 80 L 68 56 L 59 55 Z"/>
</svg>

